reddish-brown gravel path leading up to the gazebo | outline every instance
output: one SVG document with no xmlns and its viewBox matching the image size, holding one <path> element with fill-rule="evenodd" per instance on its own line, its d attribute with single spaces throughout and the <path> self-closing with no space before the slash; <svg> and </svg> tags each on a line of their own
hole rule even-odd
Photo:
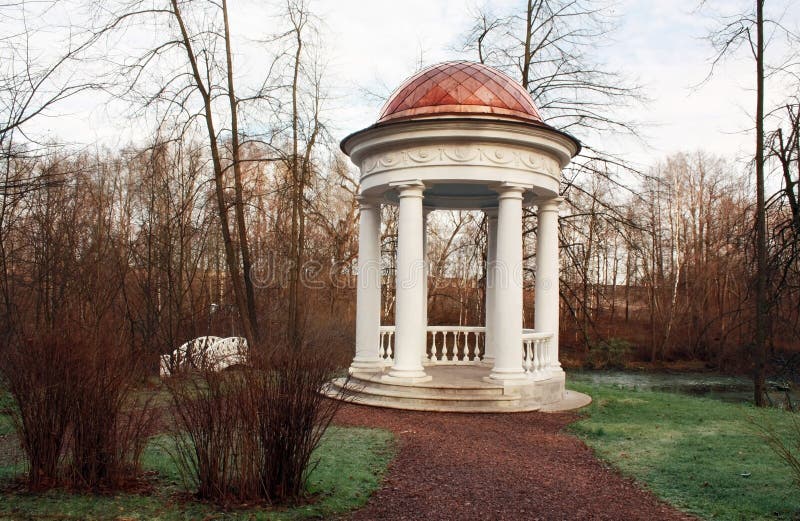
<svg viewBox="0 0 800 521">
<path fill-rule="evenodd" d="M 573 413 L 447 414 L 343 406 L 339 425 L 399 440 L 354 520 L 689 520 L 562 431 Z"/>
</svg>

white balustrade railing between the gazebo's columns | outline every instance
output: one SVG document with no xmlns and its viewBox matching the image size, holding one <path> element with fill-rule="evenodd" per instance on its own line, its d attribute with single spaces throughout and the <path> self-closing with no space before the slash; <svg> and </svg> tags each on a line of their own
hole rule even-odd
<svg viewBox="0 0 800 521">
<path fill-rule="evenodd" d="M 542 374 L 552 363 L 552 333 L 522 330 L 522 366 L 533 376 Z M 479 364 L 486 349 L 483 326 L 428 326 L 425 356 L 438 365 Z M 386 365 L 394 359 L 394 326 L 381 326 L 378 356 Z"/>
</svg>

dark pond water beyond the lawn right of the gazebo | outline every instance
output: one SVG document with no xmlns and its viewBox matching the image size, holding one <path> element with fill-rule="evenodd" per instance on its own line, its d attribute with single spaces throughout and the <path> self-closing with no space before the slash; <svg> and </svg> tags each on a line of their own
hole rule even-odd
<svg viewBox="0 0 800 521">
<path fill-rule="evenodd" d="M 693 396 L 704 396 L 731 403 L 750 403 L 753 400 L 752 380 L 741 376 L 714 373 L 666 373 L 644 371 L 569 371 L 567 380 L 592 384 L 607 384 L 623 389 L 665 391 Z M 783 392 L 770 392 L 773 403 L 783 406 Z M 793 405 L 800 405 L 797 387 L 790 392 Z"/>
</svg>

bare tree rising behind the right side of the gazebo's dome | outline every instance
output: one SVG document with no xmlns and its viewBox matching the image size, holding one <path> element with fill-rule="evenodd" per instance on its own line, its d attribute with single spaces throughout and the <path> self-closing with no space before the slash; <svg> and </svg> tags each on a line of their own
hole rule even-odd
<svg viewBox="0 0 800 521">
<path fill-rule="evenodd" d="M 620 116 L 617 109 L 639 102 L 642 94 L 637 85 L 626 81 L 619 71 L 605 67 L 593 53 L 598 42 L 608 38 L 614 29 L 609 13 L 608 3 L 603 0 L 526 0 L 506 13 L 494 13 L 486 7 L 474 16 L 473 26 L 463 37 L 462 50 L 475 52 L 482 63 L 517 78 L 547 123 L 585 141 L 581 155 L 564 172 L 562 195 L 571 206 L 571 213 L 602 214 L 604 220 L 615 220 L 625 230 L 630 223 L 619 210 L 621 206 L 615 200 L 618 196 L 611 194 L 629 193 L 631 183 L 620 183 L 619 176 L 629 178 L 638 172 L 592 141 L 611 131 L 636 136 L 636 124 Z M 586 179 L 595 177 L 607 178 L 619 190 L 606 191 L 605 197 L 592 197 L 593 190 L 584 184 Z M 526 220 L 532 219 L 535 214 L 526 212 Z M 535 225 L 527 224 L 525 230 L 532 232 Z M 582 234 L 583 230 L 576 229 L 575 233 Z M 586 275 L 585 262 L 596 253 L 591 250 L 593 238 L 572 237 L 570 241 L 584 247 L 573 260 L 583 257 Z M 588 344 L 589 302 L 574 306 L 568 302 L 571 296 L 579 301 L 588 298 L 589 281 L 584 279 L 578 288 L 569 287 L 570 278 L 563 281 L 562 302 L 570 307 L 568 316 L 581 321 Z M 599 291 L 591 293 L 600 298 Z"/>
</svg>

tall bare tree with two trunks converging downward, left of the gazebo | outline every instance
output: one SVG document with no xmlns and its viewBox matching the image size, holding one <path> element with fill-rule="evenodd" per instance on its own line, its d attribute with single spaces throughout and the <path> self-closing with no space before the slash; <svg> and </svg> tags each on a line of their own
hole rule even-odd
<svg viewBox="0 0 800 521">
<path fill-rule="evenodd" d="M 109 10 L 105 5 L 99 8 Z M 269 96 L 270 70 L 257 88 L 240 93 L 227 0 L 163 0 L 155 5 L 140 0 L 123 2 L 106 27 L 122 30 L 145 21 L 158 24 L 160 39 L 140 56 L 118 59 L 122 63 L 120 83 L 125 85 L 120 96 L 152 109 L 163 129 L 172 127 L 174 139 L 205 135 L 234 303 L 244 336 L 258 342 L 261 331 L 242 180 L 247 140 L 240 124 L 243 106 L 261 103 Z M 164 71 L 170 75 L 164 76 Z"/>
</svg>

